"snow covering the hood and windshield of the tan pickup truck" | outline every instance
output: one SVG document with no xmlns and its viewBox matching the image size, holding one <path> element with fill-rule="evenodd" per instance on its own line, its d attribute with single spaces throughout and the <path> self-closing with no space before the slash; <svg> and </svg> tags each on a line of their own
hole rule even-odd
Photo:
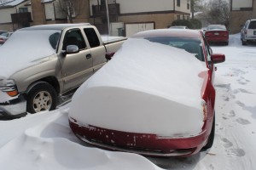
<svg viewBox="0 0 256 170">
<path fill-rule="evenodd" d="M 60 34 L 52 30 L 15 31 L 0 48 L 0 76 L 8 78 L 16 71 L 56 54 L 55 48 L 49 43 L 50 35 L 55 33 Z"/>
</svg>

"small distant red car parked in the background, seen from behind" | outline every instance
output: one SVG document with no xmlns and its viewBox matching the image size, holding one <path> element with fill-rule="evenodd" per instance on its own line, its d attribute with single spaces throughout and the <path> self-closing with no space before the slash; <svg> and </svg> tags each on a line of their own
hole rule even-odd
<svg viewBox="0 0 256 170">
<path fill-rule="evenodd" d="M 229 45 L 229 34 L 229 31 L 224 25 L 210 25 L 207 26 L 205 37 L 209 43 L 220 42 Z"/>
</svg>

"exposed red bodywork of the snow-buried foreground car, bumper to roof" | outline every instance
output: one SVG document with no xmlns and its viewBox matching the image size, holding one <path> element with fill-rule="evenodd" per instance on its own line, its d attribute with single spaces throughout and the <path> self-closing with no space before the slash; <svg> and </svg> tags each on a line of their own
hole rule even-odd
<svg viewBox="0 0 256 170">
<path fill-rule="evenodd" d="M 204 79 L 201 87 L 201 98 L 205 100 L 207 105 L 206 120 L 204 121 L 201 133 L 190 137 L 179 136 L 162 138 L 156 134 L 120 132 L 113 129 L 83 124 L 83 122 L 79 122 L 79 120 L 69 116 L 70 127 L 79 139 L 104 149 L 128 151 L 145 156 L 191 156 L 198 153 L 205 144 L 207 144 L 214 120 L 214 61 L 212 64 L 207 62 L 207 49 L 205 47 L 207 46 L 207 42 L 205 42 L 201 32 L 191 34 L 189 31 L 183 33 L 173 31 L 173 35 L 181 37 L 199 37 L 202 42 L 205 63 L 209 70 L 199 74 L 199 77 Z M 168 34 L 166 31 L 162 34 L 157 32 L 157 36 L 170 36 L 170 33 Z M 217 59 L 216 63 L 218 63 L 218 61 L 224 61 L 224 55 L 217 55 L 215 58 Z"/>
</svg>

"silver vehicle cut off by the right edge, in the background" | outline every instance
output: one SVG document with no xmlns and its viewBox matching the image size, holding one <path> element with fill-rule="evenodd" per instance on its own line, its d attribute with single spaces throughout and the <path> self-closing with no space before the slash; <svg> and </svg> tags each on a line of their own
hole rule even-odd
<svg viewBox="0 0 256 170">
<path fill-rule="evenodd" d="M 247 42 L 256 42 L 256 19 L 247 20 L 241 28 L 241 44 L 247 45 Z"/>
</svg>

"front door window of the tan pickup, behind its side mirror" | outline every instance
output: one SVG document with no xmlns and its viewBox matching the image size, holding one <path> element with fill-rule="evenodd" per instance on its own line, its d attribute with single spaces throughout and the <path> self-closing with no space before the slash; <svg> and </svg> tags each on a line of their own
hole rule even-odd
<svg viewBox="0 0 256 170">
<path fill-rule="evenodd" d="M 79 50 L 86 48 L 84 37 L 79 29 L 67 31 L 64 38 L 62 50 L 66 50 L 67 45 L 77 45 L 79 47 Z"/>
</svg>

